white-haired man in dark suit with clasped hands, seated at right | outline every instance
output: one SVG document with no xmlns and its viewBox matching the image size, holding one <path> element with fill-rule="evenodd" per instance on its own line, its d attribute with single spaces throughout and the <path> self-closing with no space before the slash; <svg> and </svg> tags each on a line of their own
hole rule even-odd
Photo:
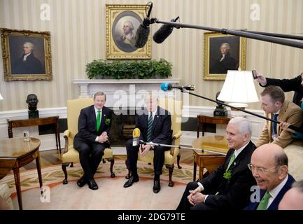
<svg viewBox="0 0 303 224">
<path fill-rule="evenodd" d="M 223 165 L 206 178 L 188 183 L 177 210 L 244 209 L 249 204 L 255 180 L 248 163 L 255 145 L 251 142 L 251 123 L 232 118 L 226 127 L 230 150 Z"/>
</svg>

